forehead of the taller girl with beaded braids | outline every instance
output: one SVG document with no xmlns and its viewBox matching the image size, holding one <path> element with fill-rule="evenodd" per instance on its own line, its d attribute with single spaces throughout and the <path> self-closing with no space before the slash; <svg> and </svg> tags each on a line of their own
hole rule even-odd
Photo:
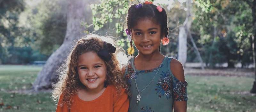
<svg viewBox="0 0 256 112">
<path fill-rule="evenodd" d="M 148 28 L 160 28 L 160 24 L 156 23 L 150 18 L 141 18 L 137 21 L 137 24 L 133 29 L 148 29 Z"/>
</svg>

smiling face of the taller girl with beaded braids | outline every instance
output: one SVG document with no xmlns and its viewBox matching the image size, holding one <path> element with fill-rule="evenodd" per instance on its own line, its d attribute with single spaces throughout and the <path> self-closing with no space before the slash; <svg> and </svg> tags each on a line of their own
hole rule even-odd
<svg viewBox="0 0 256 112">
<path fill-rule="evenodd" d="M 132 40 L 143 55 L 158 53 L 161 42 L 161 26 L 150 19 L 140 19 L 132 28 Z"/>
</svg>

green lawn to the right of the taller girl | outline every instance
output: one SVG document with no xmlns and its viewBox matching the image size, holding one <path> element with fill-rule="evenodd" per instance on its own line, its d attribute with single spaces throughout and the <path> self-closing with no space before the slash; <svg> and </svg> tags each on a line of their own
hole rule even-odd
<svg viewBox="0 0 256 112">
<path fill-rule="evenodd" d="M 188 112 L 256 112 L 256 95 L 250 94 L 254 78 L 186 76 Z"/>
</svg>

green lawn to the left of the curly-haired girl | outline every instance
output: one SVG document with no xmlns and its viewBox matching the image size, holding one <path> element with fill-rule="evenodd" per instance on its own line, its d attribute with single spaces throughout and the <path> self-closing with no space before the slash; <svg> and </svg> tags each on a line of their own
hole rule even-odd
<svg viewBox="0 0 256 112">
<path fill-rule="evenodd" d="M 30 89 L 41 69 L 38 66 L 0 66 L 0 112 L 55 112 L 50 93 L 12 92 Z"/>
</svg>

